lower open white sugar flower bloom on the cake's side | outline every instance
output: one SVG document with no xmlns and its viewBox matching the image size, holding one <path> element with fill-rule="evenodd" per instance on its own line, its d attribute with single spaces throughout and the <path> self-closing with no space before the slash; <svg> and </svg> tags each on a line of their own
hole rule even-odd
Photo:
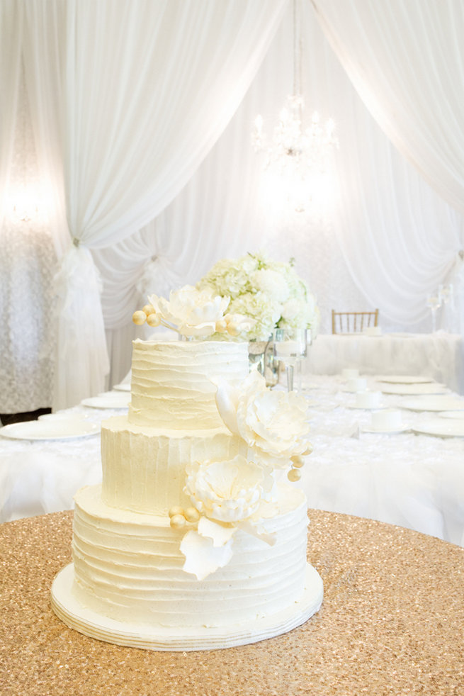
<svg viewBox="0 0 464 696">
<path fill-rule="evenodd" d="M 186 495 L 211 520 L 247 520 L 264 496 L 263 471 L 240 454 L 226 461 L 191 462 L 186 474 Z"/>
</svg>

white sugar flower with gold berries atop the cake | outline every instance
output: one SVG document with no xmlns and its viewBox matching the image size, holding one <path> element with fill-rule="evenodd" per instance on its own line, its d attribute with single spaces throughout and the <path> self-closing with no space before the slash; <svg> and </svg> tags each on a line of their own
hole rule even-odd
<svg viewBox="0 0 464 696">
<path fill-rule="evenodd" d="M 251 320 L 238 314 L 225 314 L 229 297 L 214 295 L 210 289 L 198 290 L 186 285 L 169 293 L 169 300 L 157 295 L 148 296 L 149 304 L 132 315 L 135 324 L 164 326 L 192 337 L 208 337 L 215 333 L 237 337 L 247 332 Z"/>
</svg>

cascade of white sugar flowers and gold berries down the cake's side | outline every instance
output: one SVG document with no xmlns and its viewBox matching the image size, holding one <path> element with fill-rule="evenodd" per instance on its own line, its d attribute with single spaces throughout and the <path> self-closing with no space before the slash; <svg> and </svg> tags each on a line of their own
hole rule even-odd
<svg viewBox="0 0 464 696">
<path fill-rule="evenodd" d="M 277 511 L 275 472 L 290 468 L 288 478 L 298 481 L 303 458 L 312 451 L 305 398 L 269 390 L 258 372 L 239 387 L 218 383 L 216 403 L 225 425 L 242 440 L 242 453 L 188 463 L 184 491 L 193 507 L 169 510 L 172 527 L 191 527 L 181 541 L 183 569 L 198 580 L 230 561 L 237 529 L 275 542 L 262 525 Z"/>
</svg>

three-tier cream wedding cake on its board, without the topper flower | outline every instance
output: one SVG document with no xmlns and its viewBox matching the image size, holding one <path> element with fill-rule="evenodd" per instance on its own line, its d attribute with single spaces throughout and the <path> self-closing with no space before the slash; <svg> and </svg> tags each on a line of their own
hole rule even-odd
<svg viewBox="0 0 464 696">
<path fill-rule="evenodd" d="M 129 412 L 102 424 L 103 482 L 75 496 L 73 563 L 52 586 L 70 627 L 212 649 L 276 636 L 319 609 L 305 495 L 277 481 L 282 457 L 300 466 L 307 442 L 269 434 L 259 417 L 271 410 L 281 427 L 285 398 L 295 422 L 302 398 L 260 380 L 245 343 L 133 343 Z"/>
</svg>

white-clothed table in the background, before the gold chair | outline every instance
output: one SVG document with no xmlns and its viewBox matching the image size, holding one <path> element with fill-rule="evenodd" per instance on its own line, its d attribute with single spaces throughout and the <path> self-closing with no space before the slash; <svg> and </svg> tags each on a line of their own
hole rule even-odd
<svg viewBox="0 0 464 696">
<path fill-rule="evenodd" d="M 364 374 L 419 374 L 464 394 L 464 337 L 445 331 L 430 334 L 319 334 L 310 346 L 307 370 L 339 374 L 357 367 Z"/>
</svg>

